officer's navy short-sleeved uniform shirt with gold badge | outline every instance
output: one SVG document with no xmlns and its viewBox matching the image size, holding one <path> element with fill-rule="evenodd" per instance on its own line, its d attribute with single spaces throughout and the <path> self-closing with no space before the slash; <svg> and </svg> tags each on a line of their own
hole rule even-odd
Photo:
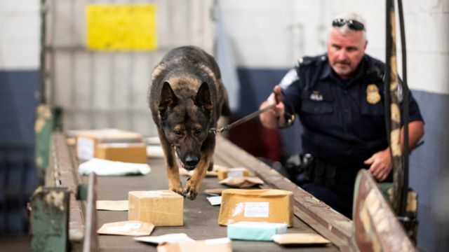
<svg viewBox="0 0 449 252">
<path fill-rule="evenodd" d="M 364 160 L 387 148 L 384 69 L 384 63 L 364 55 L 354 78 L 346 81 L 321 55 L 304 57 L 286 74 L 280 84 L 284 104 L 300 116 L 304 153 L 337 167 L 360 169 L 366 167 Z M 410 122 L 422 120 L 411 93 L 409 111 Z"/>
</svg>

